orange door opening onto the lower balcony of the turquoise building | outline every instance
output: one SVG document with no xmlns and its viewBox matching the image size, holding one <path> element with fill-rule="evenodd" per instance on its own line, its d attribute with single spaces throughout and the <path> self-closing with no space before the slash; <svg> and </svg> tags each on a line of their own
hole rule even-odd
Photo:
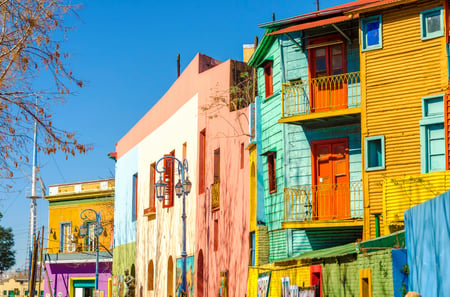
<svg viewBox="0 0 450 297">
<path fill-rule="evenodd" d="M 311 143 L 313 157 L 313 219 L 350 216 L 347 138 Z"/>
</svg>

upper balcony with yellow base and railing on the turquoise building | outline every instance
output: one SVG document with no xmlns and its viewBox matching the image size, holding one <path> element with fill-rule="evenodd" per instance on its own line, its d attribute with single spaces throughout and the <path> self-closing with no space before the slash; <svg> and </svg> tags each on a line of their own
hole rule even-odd
<svg viewBox="0 0 450 297">
<path fill-rule="evenodd" d="M 284 83 L 281 123 L 336 125 L 360 120 L 360 73 Z"/>
</svg>

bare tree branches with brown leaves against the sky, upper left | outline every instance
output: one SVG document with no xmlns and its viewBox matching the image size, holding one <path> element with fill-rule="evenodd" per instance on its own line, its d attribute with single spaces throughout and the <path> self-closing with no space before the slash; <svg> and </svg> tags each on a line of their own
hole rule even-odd
<svg viewBox="0 0 450 297">
<path fill-rule="evenodd" d="M 77 16 L 76 8 L 64 0 L 0 0 L 1 179 L 29 163 L 35 122 L 40 152 L 61 151 L 67 158 L 91 149 L 74 133 L 54 127 L 50 109 L 71 93 L 69 86 L 83 85 L 67 69 L 69 54 L 60 47 L 71 29 L 64 19 Z M 38 79 L 49 90 L 39 89 Z"/>
</svg>

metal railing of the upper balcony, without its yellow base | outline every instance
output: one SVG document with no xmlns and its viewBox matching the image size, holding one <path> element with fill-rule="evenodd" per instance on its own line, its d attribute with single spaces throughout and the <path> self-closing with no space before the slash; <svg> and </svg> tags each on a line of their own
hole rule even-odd
<svg viewBox="0 0 450 297">
<path fill-rule="evenodd" d="M 360 72 L 283 83 L 282 116 L 361 106 Z"/>
</svg>

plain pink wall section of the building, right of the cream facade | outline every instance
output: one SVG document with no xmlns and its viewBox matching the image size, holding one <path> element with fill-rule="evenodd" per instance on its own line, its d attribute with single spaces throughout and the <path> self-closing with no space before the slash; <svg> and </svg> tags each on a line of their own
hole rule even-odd
<svg viewBox="0 0 450 297">
<path fill-rule="evenodd" d="M 209 71 L 223 76 L 225 90 L 237 84 L 240 71 L 252 73 L 235 61 Z M 198 129 L 196 296 L 244 296 L 249 262 L 248 107 L 231 111 L 232 99 L 218 107 L 220 100 L 211 103 L 214 98 L 230 102 L 230 92 L 209 93 L 205 99 L 210 108 L 200 113 Z"/>
</svg>

